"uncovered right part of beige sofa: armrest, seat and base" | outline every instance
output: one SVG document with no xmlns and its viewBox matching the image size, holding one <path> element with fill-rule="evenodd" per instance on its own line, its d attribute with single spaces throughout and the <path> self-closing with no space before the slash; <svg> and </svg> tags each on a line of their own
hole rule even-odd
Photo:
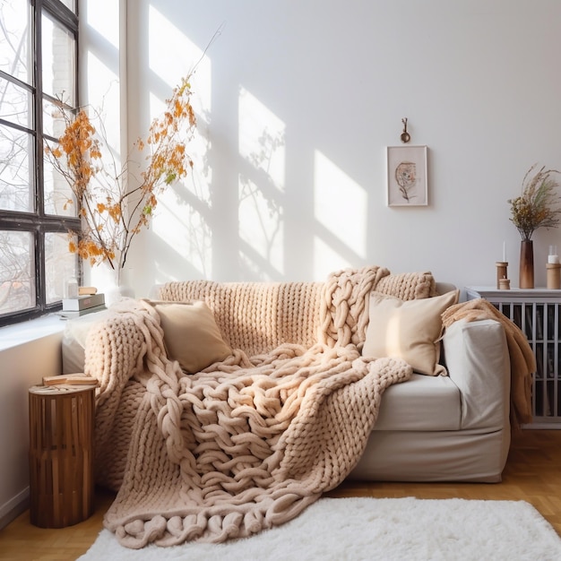
<svg viewBox="0 0 561 561">
<path fill-rule="evenodd" d="M 444 332 L 447 376 L 413 374 L 384 393 L 352 479 L 501 480 L 510 446 L 510 362 L 503 326 L 460 321 Z"/>
</svg>

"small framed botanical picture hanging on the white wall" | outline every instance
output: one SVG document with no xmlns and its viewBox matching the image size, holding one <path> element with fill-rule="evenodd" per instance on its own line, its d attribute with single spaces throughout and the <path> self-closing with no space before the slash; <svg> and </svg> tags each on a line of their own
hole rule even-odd
<svg viewBox="0 0 561 561">
<path fill-rule="evenodd" d="M 427 146 L 386 146 L 388 206 L 427 206 Z"/>
</svg>

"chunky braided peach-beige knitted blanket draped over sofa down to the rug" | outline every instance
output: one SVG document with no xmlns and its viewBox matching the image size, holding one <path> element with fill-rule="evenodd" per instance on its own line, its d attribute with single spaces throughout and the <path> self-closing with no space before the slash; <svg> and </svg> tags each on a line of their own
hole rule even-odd
<svg viewBox="0 0 561 561">
<path fill-rule="evenodd" d="M 314 345 L 283 343 L 254 357 L 237 349 L 196 375 L 167 358 L 159 316 L 142 301 L 121 305 L 92 330 L 86 372 L 100 382 L 97 453 L 110 443 L 125 384 L 144 388 L 104 521 L 121 544 L 246 537 L 289 521 L 345 479 L 385 388 L 411 375 L 400 360 L 359 351 L 368 294 L 387 274 L 344 271 L 318 285 Z"/>
</svg>

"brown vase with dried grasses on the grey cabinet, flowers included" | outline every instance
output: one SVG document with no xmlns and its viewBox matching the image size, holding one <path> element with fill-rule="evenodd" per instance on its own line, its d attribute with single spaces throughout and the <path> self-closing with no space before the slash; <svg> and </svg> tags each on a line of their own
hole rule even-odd
<svg viewBox="0 0 561 561">
<path fill-rule="evenodd" d="M 557 194 L 559 183 L 554 177 L 556 169 L 542 167 L 535 172 L 534 164 L 522 181 L 522 194 L 509 199 L 511 205 L 511 221 L 522 236 L 520 247 L 521 289 L 534 288 L 534 250 L 532 234 L 539 228 L 557 228 L 559 225 L 560 198 Z M 533 175 L 532 175 L 533 173 Z"/>
</svg>

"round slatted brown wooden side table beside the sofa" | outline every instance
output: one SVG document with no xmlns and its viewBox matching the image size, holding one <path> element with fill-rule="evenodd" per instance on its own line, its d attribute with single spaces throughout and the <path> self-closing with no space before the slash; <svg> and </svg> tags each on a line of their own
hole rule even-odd
<svg viewBox="0 0 561 561">
<path fill-rule="evenodd" d="M 30 522 L 63 528 L 93 513 L 95 386 L 30 388 Z"/>
</svg>

